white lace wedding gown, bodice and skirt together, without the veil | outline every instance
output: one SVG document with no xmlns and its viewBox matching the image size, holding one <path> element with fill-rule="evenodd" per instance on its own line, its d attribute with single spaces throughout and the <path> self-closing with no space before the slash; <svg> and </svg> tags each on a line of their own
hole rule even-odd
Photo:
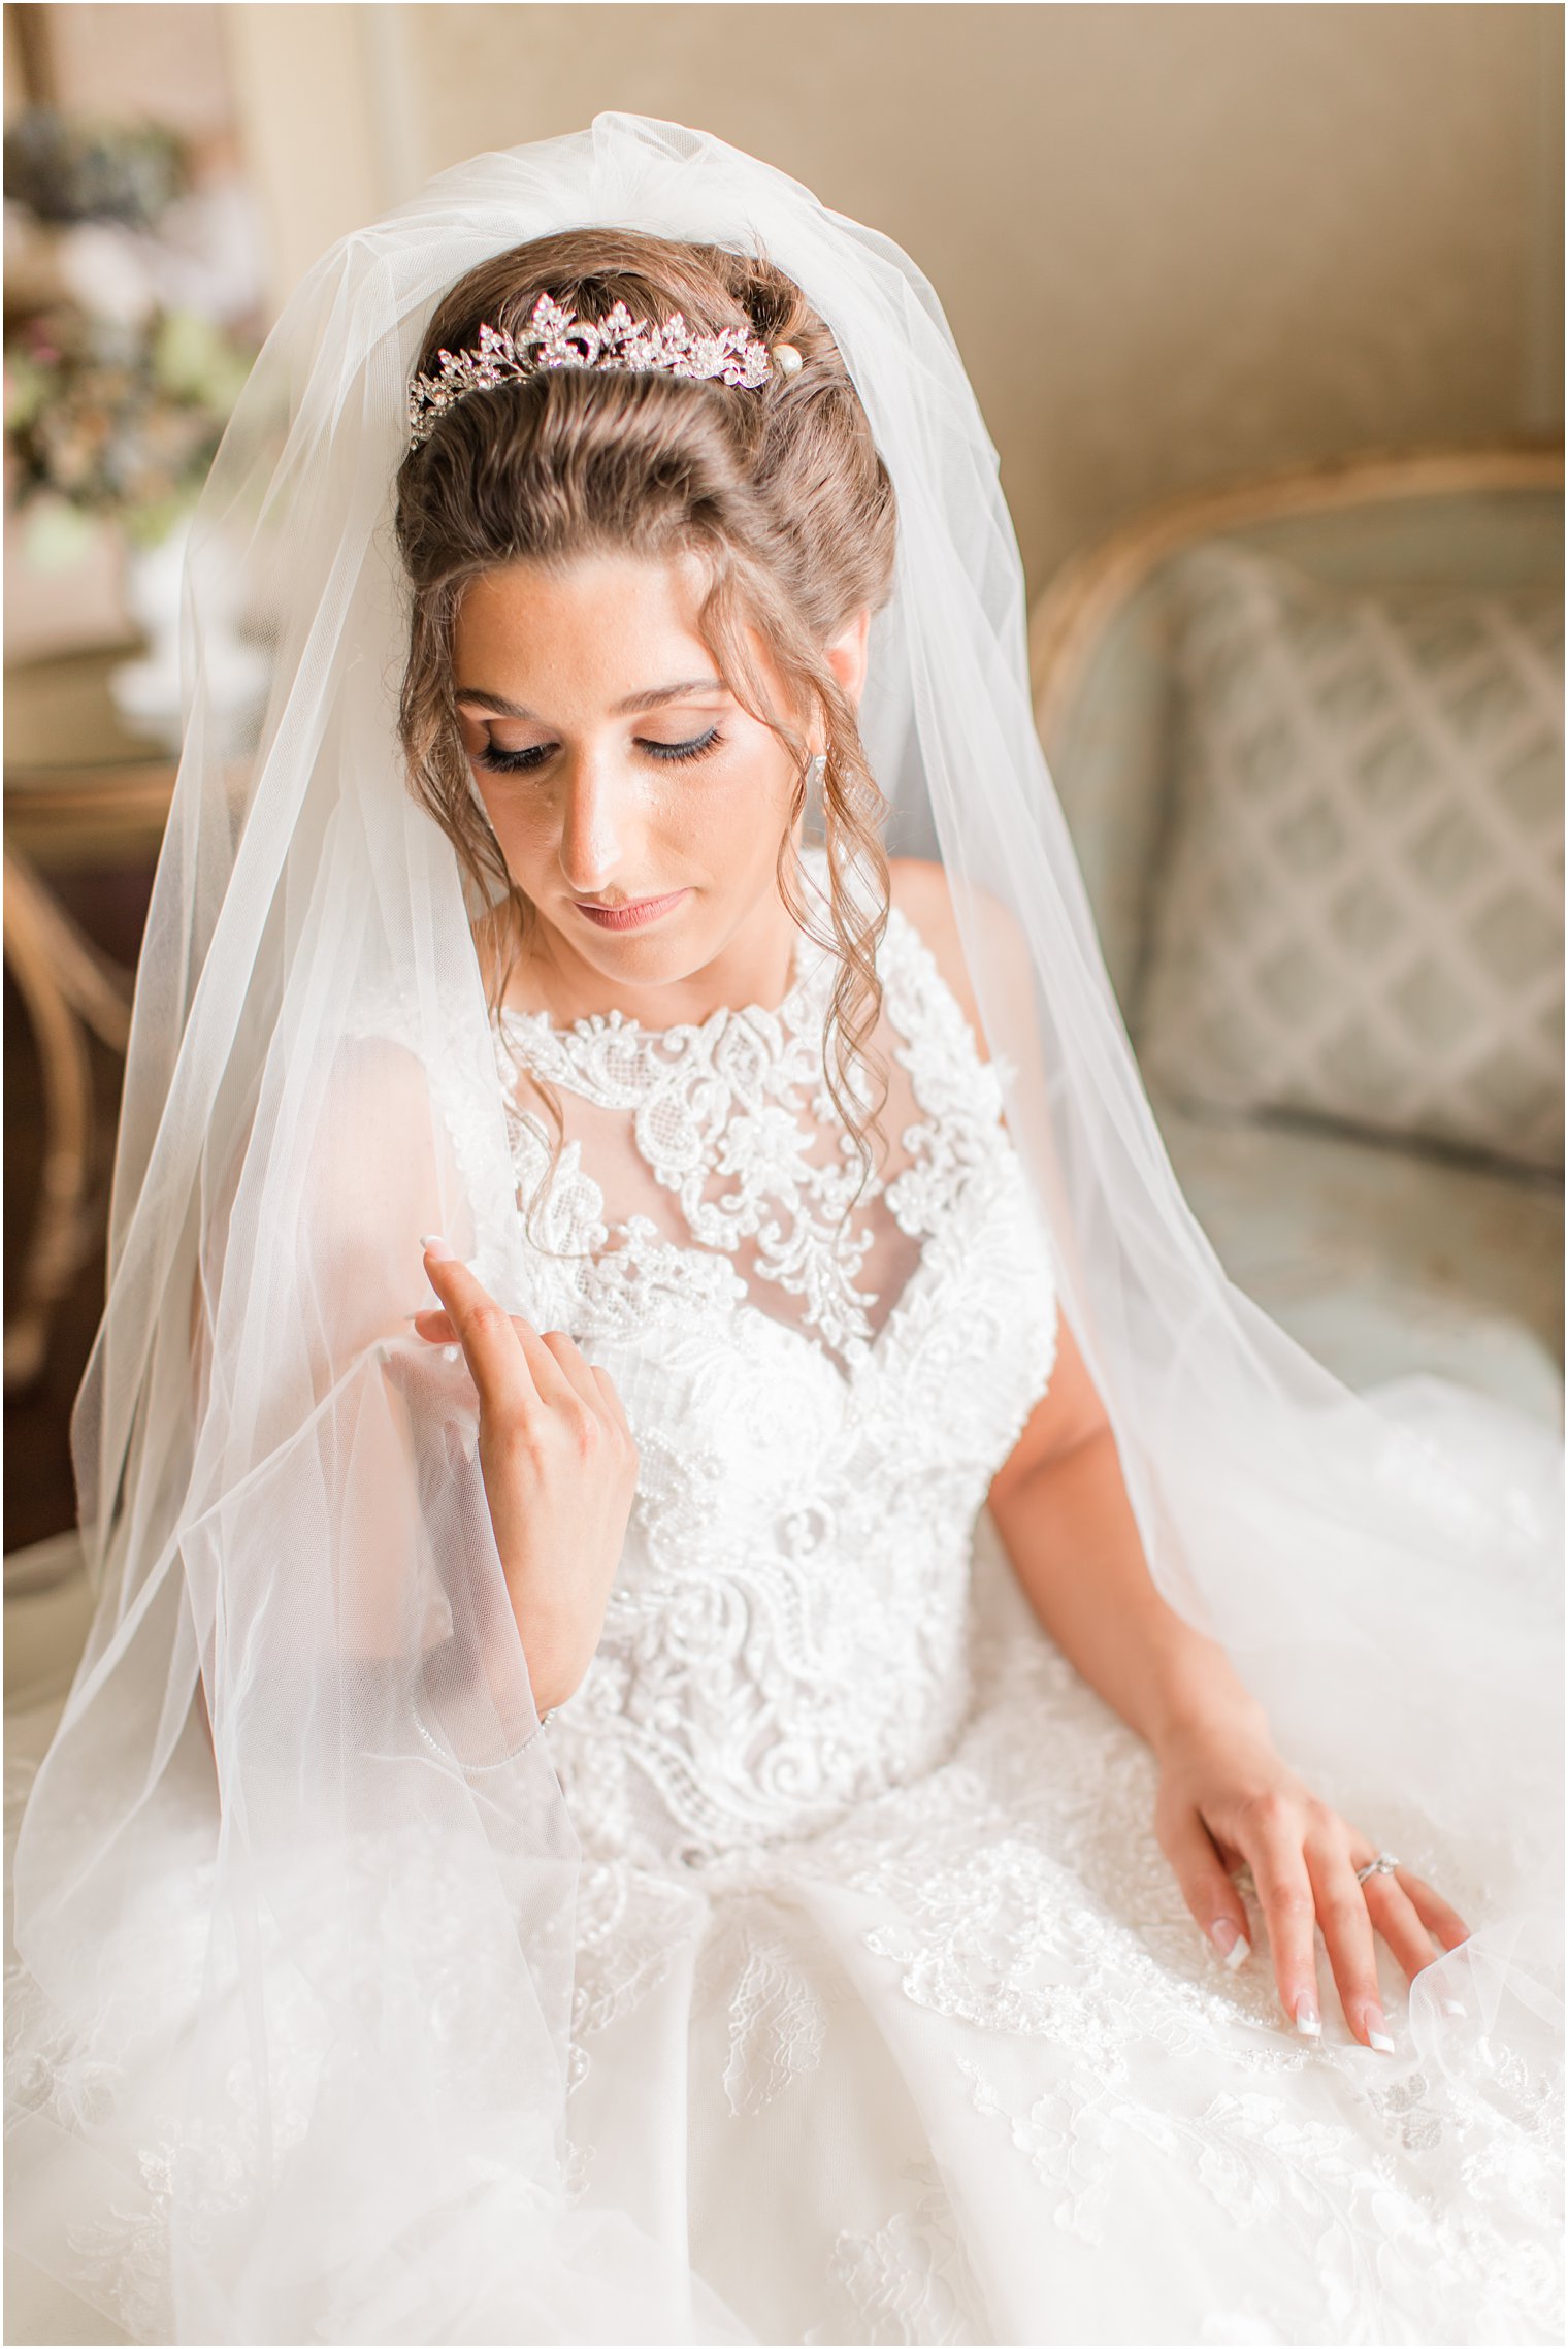
<svg viewBox="0 0 1568 2349">
<path fill-rule="evenodd" d="M 545 1729 L 582 1842 L 570 2194 L 763 2342 L 1556 2340 L 1556 2079 L 1474 2018 L 1418 2060 L 1380 1943 L 1397 2053 L 1322 1950 L 1296 2037 L 1251 1879 L 1232 1973 L 1153 1752 L 1012 1576 L 984 1501 L 1052 1377 L 1052 1245 L 897 907 L 880 977 L 887 1153 L 840 1245 L 822 949 L 777 1012 L 498 1022 L 519 1200 L 521 1066 L 566 1116 L 530 1315 L 608 1367 L 641 1459 Z"/>
</svg>

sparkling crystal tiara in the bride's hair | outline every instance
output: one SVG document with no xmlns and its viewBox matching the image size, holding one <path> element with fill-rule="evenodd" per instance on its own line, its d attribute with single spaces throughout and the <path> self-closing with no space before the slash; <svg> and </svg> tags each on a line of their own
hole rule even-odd
<svg viewBox="0 0 1568 2349">
<path fill-rule="evenodd" d="M 418 449 L 420 442 L 427 442 L 446 409 L 469 392 L 538 376 L 547 366 L 601 366 L 624 376 L 718 378 L 756 390 L 775 371 L 793 376 L 800 369 L 800 352 L 793 343 L 775 343 L 770 352 L 768 343 L 749 338 L 744 327 L 692 334 L 678 310 L 660 327 L 631 317 L 624 301 L 617 301 L 608 317 L 575 317 L 549 294 L 540 294 L 528 331 L 516 341 L 481 324 L 474 350 L 441 350 L 441 371 L 413 378 L 408 385 L 408 446 Z"/>
</svg>

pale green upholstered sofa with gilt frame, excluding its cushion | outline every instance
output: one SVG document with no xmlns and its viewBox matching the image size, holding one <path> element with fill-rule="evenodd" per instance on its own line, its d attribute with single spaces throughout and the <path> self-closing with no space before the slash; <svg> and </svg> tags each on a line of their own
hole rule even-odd
<svg viewBox="0 0 1568 2349">
<path fill-rule="evenodd" d="M 1512 1163 L 1354 1120 L 1216 1111 L 1162 1088 L 1143 1043 L 1160 982 L 1150 935 L 1171 886 L 1183 559 L 1239 547 L 1326 585 L 1549 599 L 1561 533 L 1561 453 L 1376 453 L 1141 514 L 1073 559 L 1030 615 L 1035 719 L 1110 980 L 1171 1163 L 1228 1273 L 1352 1386 L 1441 1372 L 1554 1423 L 1563 1193 L 1549 1151 Z"/>
</svg>

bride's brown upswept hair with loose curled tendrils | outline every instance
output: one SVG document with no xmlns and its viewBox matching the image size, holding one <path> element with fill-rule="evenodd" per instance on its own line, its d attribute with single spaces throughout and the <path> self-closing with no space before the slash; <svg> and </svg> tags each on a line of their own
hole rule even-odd
<svg viewBox="0 0 1568 2349">
<path fill-rule="evenodd" d="M 779 836 L 779 895 L 810 933 L 791 893 L 789 834 L 805 806 L 807 735 L 826 745 L 822 778 L 831 947 L 838 977 L 824 1036 L 824 1078 L 861 1153 L 873 1156 L 847 1088 L 880 1017 L 876 956 L 887 926 L 887 801 L 866 766 L 854 705 L 824 646 L 857 611 L 892 592 L 894 493 L 866 411 L 833 336 L 791 277 L 756 254 L 685 244 L 634 230 L 582 228 L 538 237 L 469 270 L 439 303 L 418 373 L 439 371 L 441 348 L 474 348 L 481 322 L 521 336 L 540 294 L 580 317 L 624 301 L 638 319 L 676 310 L 699 334 L 742 327 L 763 343 L 793 343 L 803 366 L 775 369 L 761 388 L 667 373 L 542 369 L 453 402 L 397 474 L 397 547 L 413 590 L 399 738 L 415 799 L 451 839 L 481 904 L 493 902 L 512 954 L 495 956 L 491 1001 L 530 935 L 533 907 L 512 883 L 469 792 L 453 702 L 453 637 L 462 594 L 512 561 L 561 564 L 584 552 L 653 561 L 697 554 L 707 571 L 699 634 L 728 688 L 798 759 Z M 753 627 L 784 679 L 791 707 L 765 705 L 746 646 Z M 866 911 L 845 886 L 852 864 L 876 876 Z M 831 1062 L 829 1062 L 831 1041 Z M 533 1076 L 563 1139 L 559 1099 Z M 535 1191 L 542 1196 L 549 1172 Z M 859 1193 L 857 1193 L 859 1198 Z M 854 1205 L 854 1203 L 850 1203 Z M 533 1200 L 530 1200 L 533 1207 Z M 845 1210 L 850 1212 L 850 1210 Z"/>
</svg>

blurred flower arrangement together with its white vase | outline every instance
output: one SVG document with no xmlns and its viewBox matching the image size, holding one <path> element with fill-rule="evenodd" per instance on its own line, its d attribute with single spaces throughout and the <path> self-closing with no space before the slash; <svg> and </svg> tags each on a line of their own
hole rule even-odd
<svg viewBox="0 0 1568 2349">
<path fill-rule="evenodd" d="M 190 517 L 263 331 L 251 193 L 218 134 L 26 108 L 5 132 L 5 493 L 33 573 L 115 552 L 143 651 L 120 723 L 176 749 Z M 202 672 L 239 723 L 265 691 L 246 615 L 209 613 Z"/>
</svg>

